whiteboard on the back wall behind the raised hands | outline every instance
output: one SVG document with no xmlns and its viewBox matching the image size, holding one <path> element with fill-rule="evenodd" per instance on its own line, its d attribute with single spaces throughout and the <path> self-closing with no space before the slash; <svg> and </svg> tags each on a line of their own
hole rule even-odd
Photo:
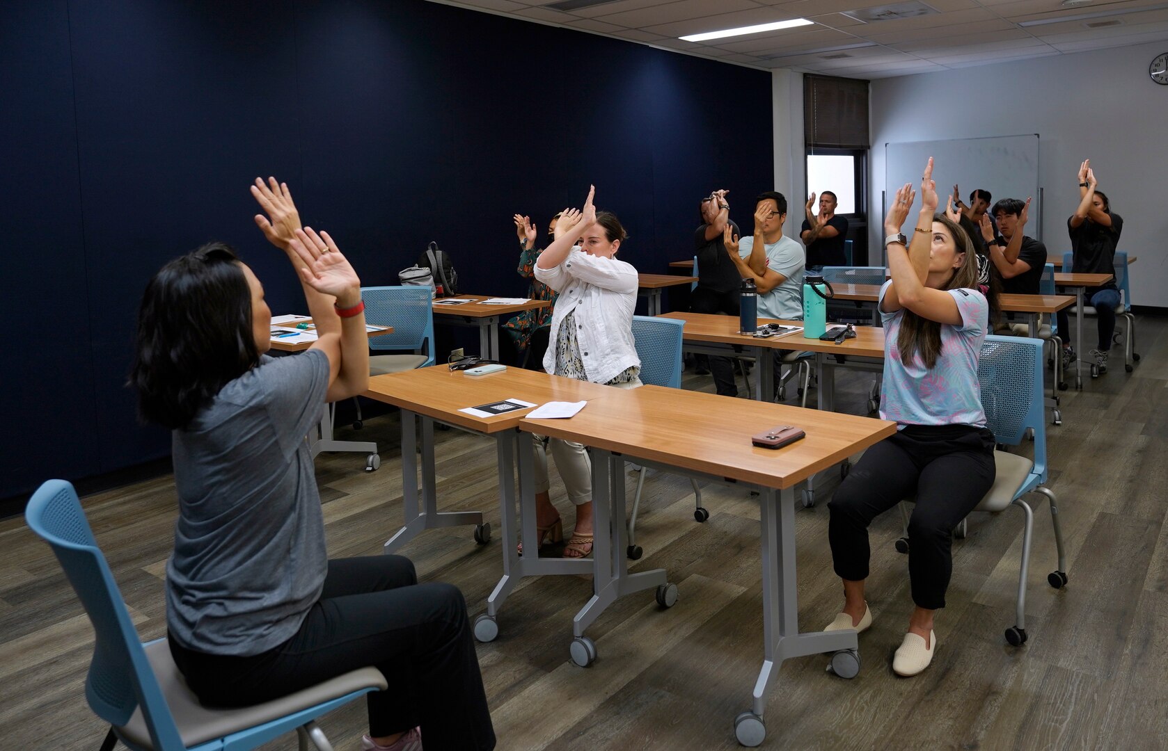
<svg viewBox="0 0 1168 751">
<path fill-rule="evenodd" d="M 933 157 L 933 180 L 940 198 L 938 211 L 945 210 L 946 196 L 953 184 L 961 185 L 961 201 L 969 203 L 975 188 L 988 190 L 994 202 L 1018 198 L 1030 203 L 1027 234 L 1042 239 L 1042 195 L 1038 190 L 1038 134 L 999 135 L 951 141 L 913 141 L 884 145 L 884 205 L 904 183 L 917 191 L 916 209 L 920 208 L 920 175 L 929 157 Z"/>
</svg>

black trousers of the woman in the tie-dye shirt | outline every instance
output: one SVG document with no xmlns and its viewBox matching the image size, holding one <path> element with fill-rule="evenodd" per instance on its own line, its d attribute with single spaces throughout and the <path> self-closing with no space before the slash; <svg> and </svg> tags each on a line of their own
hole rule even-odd
<svg viewBox="0 0 1168 751">
<path fill-rule="evenodd" d="M 912 602 L 945 606 L 952 532 L 994 484 L 994 434 L 971 426 L 909 426 L 868 449 L 827 504 L 840 578 L 868 578 L 868 525 L 916 494 L 909 519 Z"/>
</svg>

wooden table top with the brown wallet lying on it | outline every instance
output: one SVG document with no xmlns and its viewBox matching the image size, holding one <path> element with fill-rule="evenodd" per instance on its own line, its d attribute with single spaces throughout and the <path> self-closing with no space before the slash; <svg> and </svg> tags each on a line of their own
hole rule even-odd
<svg viewBox="0 0 1168 751">
<path fill-rule="evenodd" d="M 703 392 L 614 391 L 570 420 L 524 419 L 520 429 L 780 490 L 896 431 L 896 423 L 884 420 Z M 784 424 L 807 436 L 781 449 L 751 444 L 752 435 Z"/>
</svg>

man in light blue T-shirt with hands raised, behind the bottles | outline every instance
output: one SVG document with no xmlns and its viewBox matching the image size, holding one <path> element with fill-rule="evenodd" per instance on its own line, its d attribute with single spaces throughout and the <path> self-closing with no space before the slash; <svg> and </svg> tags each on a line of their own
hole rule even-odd
<svg viewBox="0 0 1168 751">
<path fill-rule="evenodd" d="M 783 234 L 787 199 L 780 192 L 759 194 L 755 204 L 755 234 L 739 239 L 726 226 L 723 243 L 743 279 L 758 288 L 758 317 L 802 320 L 802 246 Z"/>
</svg>

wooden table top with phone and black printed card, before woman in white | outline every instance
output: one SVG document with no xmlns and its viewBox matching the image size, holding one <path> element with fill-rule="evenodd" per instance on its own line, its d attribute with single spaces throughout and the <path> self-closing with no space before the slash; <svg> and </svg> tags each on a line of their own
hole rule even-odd
<svg viewBox="0 0 1168 751">
<path fill-rule="evenodd" d="M 363 395 L 479 433 L 496 433 L 514 428 L 535 407 L 489 417 L 478 417 L 459 410 L 505 399 L 520 399 L 536 405 L 548 401 L 591 402 L 620 391 L 612 386 L 520 367 L 508 367 L 486 376 L 467 376 L 464 371 L 450 370 L 447 365 L 432 365 L 403 373 L 374 376 Z"/>
</svg>

